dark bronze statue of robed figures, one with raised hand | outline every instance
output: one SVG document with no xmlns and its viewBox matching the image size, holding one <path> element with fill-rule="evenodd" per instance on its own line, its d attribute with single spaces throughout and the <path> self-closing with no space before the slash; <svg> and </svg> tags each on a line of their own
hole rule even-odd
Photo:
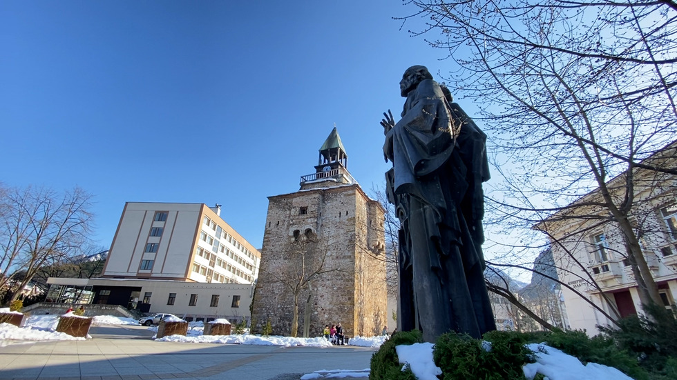
<svg viewBox="0 0 677 380">
<path fill-rule="evenodd" d="M 401 223 L 397 328 L 430 342 L 449 331 L 479 338 L 496 329 L 481 251 L 486 134 L 425 66 L 408 68 L 400 90 L 402 119 L 388 110 L 381 121 L 388 200 Z"/>
</svg>

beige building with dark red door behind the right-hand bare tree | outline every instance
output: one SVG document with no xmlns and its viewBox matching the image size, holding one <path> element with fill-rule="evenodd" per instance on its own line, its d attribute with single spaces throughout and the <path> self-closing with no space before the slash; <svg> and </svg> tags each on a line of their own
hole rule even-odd
<svg viewBox="0 0 677 380">
<path fill-rule="evenodd" d="M 673 143 L 644 162 L 674 168 L 676 146 Z M 677 297 L 677 177 L 642 169 L 633 174 L 635 201 L 629 220 L 640 238 L 662 302 L 669 308 Z M 613 197 L 622 199 L 625 176 L 612 179 L 609 188 Z M 589 334 L 598 332 L 596 326 L 609 325 L 609 317 L 642 312 L 623 234 L 608 212 L 595 206 L 601 200 L 599 192 L 591 192 L 537 226 L 548 232 L 553 242 L 557 275 L 566 284 L 561 289 L 566 319 L 572 329 Z"/>
</svg>

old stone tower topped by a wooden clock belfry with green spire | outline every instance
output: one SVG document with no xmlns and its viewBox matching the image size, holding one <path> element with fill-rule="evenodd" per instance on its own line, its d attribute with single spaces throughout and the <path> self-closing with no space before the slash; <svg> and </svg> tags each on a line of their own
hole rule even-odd
<svg viewBox="0 0 677 380">
<path fill-rule="evenodd" d="M 383 208 L 347 170 L 332 130 L 301 189 L 268 197 L 252 319 L 260 332 L 317 337 L 341 323 L 348 337 L 379 334 L 387 322 Z M 296 308 L 296 312 L 294 309 Z"/>
</svg>

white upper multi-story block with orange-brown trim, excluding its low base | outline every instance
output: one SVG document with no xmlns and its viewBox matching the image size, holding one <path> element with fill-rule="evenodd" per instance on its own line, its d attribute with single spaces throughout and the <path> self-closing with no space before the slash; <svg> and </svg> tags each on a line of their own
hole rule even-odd
<svg viewBox="0 0 677 380">
<path fill-rule="evenodd" d="M 260 258 L 220 206 L 128 202 L 102 278 L 252 283 Z"/>
</svg>

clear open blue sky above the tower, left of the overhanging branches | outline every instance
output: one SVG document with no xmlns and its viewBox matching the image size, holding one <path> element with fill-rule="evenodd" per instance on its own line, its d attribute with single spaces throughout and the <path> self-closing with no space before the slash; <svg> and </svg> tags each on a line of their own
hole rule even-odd
<svg viewBox="0 0 677 380">
<path fill-rule="evenodd" d="M 260 248 L 267 197 L 298 190 L 334 123 L 353 177 L 382 186 L 379 121 L 401 111 L 402 73 L 452 69 L 392 19 L 415 11 L 400 0 L 1 1 L 0 181 L 84 188 L 102 246 L 124 203 L 147 201 L 220 203 Z"/>
</svg>

